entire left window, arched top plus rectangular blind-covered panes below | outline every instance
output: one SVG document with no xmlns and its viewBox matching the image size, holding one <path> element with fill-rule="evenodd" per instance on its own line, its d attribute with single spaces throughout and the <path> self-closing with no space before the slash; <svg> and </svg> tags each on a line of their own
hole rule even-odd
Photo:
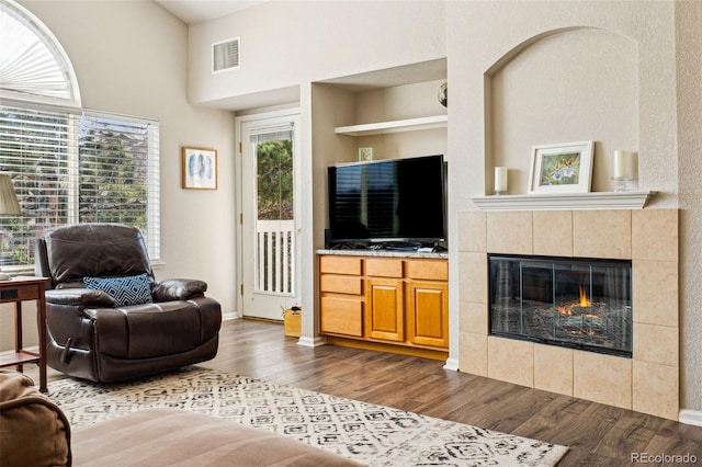
<svg viewBox="0 0 702 467">
<path fill-rule="evenodd" d="M 81 109 L 63 47 L 12 0 L 0 0 L 0 173 L 22 209 L 0 216 L 0 269 L 32 269 L 35 238 L 80 223 L 138 228 L 158 262 L 159 122 Z"/>
</svg>

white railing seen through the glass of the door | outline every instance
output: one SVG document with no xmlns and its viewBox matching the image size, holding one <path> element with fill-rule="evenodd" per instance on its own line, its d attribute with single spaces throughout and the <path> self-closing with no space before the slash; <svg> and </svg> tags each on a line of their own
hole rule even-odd
<svg viewBox="0 0 702 467">
<path fill-rule="evenodd" d="M 282 295 L 294 293 L 294 220 L 257 220 L 257 292 Z"/>
</svg>

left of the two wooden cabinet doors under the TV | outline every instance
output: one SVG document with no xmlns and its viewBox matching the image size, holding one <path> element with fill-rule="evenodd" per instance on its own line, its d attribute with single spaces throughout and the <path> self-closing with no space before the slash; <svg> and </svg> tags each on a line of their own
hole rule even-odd
<svg viewBox="0 0 702 467">
<path fill-rule="evenodd" d="M 405 340 L 403 281 L 367 280 L 367 337 L 385 341 Z"/>
</svg>

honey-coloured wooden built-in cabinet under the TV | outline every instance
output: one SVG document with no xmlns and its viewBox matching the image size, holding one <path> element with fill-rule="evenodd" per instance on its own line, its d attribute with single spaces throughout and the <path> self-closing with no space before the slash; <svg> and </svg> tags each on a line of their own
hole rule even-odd
<svg viewBox="0 0 702 467">
<path fill-rule="evenodd" d="M 320 332 L 329 343 L 446 358 L 446 258 L 327 250 L 318 260 Z"/>
</svg>

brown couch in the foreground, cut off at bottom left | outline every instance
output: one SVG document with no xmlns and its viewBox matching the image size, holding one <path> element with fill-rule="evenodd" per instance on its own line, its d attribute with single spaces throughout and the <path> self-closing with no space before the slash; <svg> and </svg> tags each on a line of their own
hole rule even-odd
<svg viewBox="0 0 702 467">
<path fill-rule="evenodd" d="M 71 432 L 34 381 L 0 371 L 0 466 L 263 467 L 361 464 L 264 430 L 179 409 L 148 409 Z"/>
</svg>

